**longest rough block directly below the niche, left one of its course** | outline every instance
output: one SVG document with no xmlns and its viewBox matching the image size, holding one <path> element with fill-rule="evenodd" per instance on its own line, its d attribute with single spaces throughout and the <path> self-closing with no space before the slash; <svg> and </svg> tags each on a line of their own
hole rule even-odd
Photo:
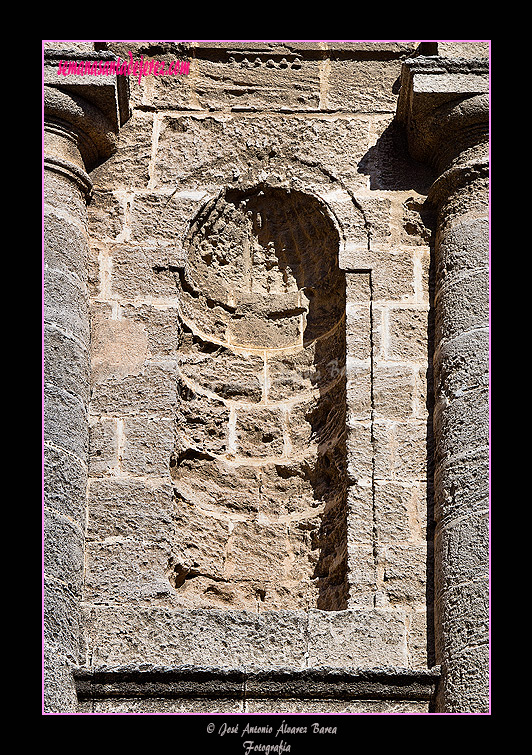
<svg viewBox="0 0 532 755">
<path fill-rule="evenodd" d="M 87 607 L 93 664 L 303 668 L 304 611 Z"/>
</svg>

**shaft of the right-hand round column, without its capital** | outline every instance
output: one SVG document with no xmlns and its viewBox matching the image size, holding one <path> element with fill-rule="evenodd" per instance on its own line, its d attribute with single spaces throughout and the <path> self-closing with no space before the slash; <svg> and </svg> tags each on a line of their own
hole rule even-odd
<svg viewBox="0 0 532 755">
<path fill-rule="evenodd" d="M 487 166 L 443 176 L 435 243 L 435 616 L 438 709 L 489 705 Z M 442 184 L 447 184 L 445 188 Z M 442 191 L 443 190 L 443 191 Z M 438 196 L 439 195 L 439 196 Z"/>
</svg>

